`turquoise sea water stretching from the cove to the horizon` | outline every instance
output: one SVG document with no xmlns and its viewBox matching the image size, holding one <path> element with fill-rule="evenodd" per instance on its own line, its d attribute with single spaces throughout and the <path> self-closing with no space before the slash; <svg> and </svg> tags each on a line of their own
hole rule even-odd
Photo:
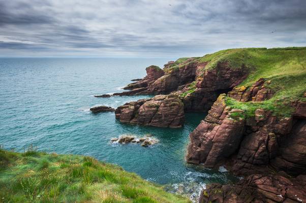
<svg viewBox="0 0 306 203">
<path fill-rule="evenodd" d="M 169 59 L 170 60 L 170 59 Z M 84 154 L 116 163 L 125 170 L 168 190 L 197 193 L 208 182 L 234 180 L 218 170 L 197 170 L 184 161 L 189 133 L 204 118 L 190 113 L 180 129 L 122 124 L 113 112 L 92 114 L 89 108 L 116 108 L 147 96 L 96 98 L 94 94 L 123 91 L 131 79 L 145 76 L 145 67 L 163 67 L 167 59 L 144 58 L 0 58 L 0 144 L 6 149 L 33 144 L 39 150 Z M 159 140 L 145 148 L 137 144 L 111 144 L 121 134 Z M 194 185 L 196 183 L 196 186 Z M 192 186 L 190 186 L 192 185 Z"/>
</svg>

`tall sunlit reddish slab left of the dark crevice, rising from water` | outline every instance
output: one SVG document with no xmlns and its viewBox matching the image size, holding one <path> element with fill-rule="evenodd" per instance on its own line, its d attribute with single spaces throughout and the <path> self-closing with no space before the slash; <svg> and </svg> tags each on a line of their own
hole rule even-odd
<svg viewBox="0 0 306 203">
<path fill-rule="evenodd" d="M 232 118 L 241 110 L 226 108 L 220 95 L 208 115 L 190 134 L 187 161 L 213 167 L 232 155 L 239 147 L 244 131 L 244 119 Z"/>
</svg>

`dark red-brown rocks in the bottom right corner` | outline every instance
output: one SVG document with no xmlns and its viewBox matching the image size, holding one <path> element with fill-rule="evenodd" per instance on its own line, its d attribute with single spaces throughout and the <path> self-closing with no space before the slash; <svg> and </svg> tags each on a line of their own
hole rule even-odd
<svg viewBox="0 0 306 203">
<path fill-rule="evenodd" d="M 203 190 L 199 203 L 306 202 L 306 176 L 289 178 L 284 174 L 251 175 L 236 185 L 211 184 Z"/>
</svg>

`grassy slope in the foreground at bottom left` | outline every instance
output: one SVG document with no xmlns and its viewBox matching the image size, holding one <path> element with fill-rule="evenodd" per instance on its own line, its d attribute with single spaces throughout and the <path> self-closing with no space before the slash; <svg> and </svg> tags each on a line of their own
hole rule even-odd
<svg viewBox="0 0 306 203">
<path fill-rule="evenodd" d="M 0 149 L 0 202 L 190 202 L 121 167 L 80 155 Z"/>
</svg>

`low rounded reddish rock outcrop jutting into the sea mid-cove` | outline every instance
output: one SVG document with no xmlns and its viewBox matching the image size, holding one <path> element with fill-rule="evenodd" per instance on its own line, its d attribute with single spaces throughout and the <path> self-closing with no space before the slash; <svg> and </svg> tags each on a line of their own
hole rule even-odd
<svg viewBox="0 0 306 203">
<path fill-rule="evenodd" d="M 126 103 L 115 110 L 123 123 L 157 127 L 181 127 L 185 120 L 183 104 L 177 95 L 157 95 Z"/>
</svg>

